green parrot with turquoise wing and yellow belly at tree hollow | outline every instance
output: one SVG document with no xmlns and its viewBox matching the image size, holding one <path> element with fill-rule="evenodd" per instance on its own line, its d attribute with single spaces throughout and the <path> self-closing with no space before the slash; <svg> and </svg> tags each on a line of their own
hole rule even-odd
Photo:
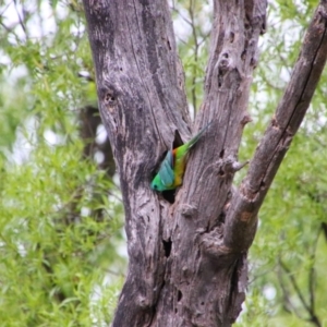
<svg viewBox="0 0 327 327">
<path fill-rule="evenodd" d="M 186 166 L 186 156 L 210 124 L 211 122 L 204 126 L 187 143 L 172 150 L 168 150 L 158 173 L 152 181 L 150 186 L 153 190 L 158 192 L 174 190 L 182 184 Z"/>
</svg>

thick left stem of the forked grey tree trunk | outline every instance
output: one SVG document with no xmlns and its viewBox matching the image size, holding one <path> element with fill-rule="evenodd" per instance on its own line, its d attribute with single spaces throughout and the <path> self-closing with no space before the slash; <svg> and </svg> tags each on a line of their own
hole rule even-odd
<svg viewBox="0 0 327 327">
<path fill-rule="evenodd" d="M 169 217 L 149 182 L 177 126 L 190 137 L 183 75 L 166 1 L 85 0 L 84 7 L 130 256 L 113 326 L 149 326 L 164 284 L 162 230 Z"/>
</svg>

